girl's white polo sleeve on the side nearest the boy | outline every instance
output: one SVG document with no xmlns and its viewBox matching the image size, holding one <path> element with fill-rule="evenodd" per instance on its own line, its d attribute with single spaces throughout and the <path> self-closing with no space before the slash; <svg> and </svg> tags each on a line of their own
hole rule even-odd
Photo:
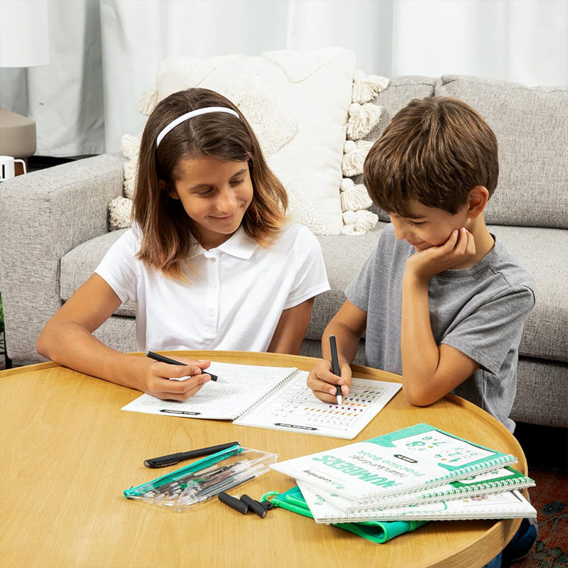
<svg viewBox="0 0 568 568">
<path fill-rule="evenodd" d="M 329 290 L 322 246 L 307 227 L 300 227 L 293 242 L 292 254 L 295 277 L 285 310 Z"/>
</svg>

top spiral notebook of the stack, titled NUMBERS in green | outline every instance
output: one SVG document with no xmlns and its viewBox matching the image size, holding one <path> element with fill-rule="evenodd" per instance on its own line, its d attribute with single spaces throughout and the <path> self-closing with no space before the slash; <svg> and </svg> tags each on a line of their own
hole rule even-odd
<svg viewBox="0 0 568 568">
<path fill-rule="evenodd" d="M 279 461 L 272 469 L 351 500 L 366 501 L 426 491 L 513 464 L 510 454 L 474 444 L 427 424 L 325 452 Z"/>
</svg>

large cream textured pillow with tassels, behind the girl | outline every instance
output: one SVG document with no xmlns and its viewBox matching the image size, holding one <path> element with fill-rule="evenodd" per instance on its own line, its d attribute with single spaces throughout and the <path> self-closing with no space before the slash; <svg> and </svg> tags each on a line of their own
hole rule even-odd
<svg viewBox="0 0 568 568">
<path fill-rule="evenodd" d="M 362 171 L 371 144 L 359 138 L 373 129 L 382 110 L 369 101 L 388 80 L 367 76 L 354 65 L 354 53 L 343 48 L 175 58 L 160 64 L 156 85 L 138 108 L 149 115 L 161 99 L 188 87 L 224 94 L 243 111 L 283 182 L 290 217 L 315 234 L 363 234 L 376 224 L 376 215 L 363 211 L 371 200 L 364 185 L 354 185 L 349 176 Z M 129 199 L 139 144 L 139 138 L 123 137 Z M 111 202 L 111 229 L 129 226 L 129 199 Z M 345 215 L 349 212 L 356 214 Z"/>
</svg>

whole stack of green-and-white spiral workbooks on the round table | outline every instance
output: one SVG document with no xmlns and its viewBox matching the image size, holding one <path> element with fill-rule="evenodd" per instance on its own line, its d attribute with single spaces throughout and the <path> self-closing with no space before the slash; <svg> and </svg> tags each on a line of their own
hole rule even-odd
<svg viewBox="0 0 568 568">
<path fill-rule="evenodd" d="M 427 424 L 280 461 L 317 523 L 536 517 L 517 459 Z"/>
</svg>

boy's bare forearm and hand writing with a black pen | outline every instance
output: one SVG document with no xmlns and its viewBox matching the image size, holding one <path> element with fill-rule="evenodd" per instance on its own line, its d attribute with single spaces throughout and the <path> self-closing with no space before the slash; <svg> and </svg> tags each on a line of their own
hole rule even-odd
<svg viewBox="0 0 568 568">
<path fill-rule="evenodd" d="M 345 300 L 339 312 L 327 324 L 322 336 L 323 360 L 315 364 L 307 377 L 307 386 L 314 395 L 324 403 L 337 402 L 335 385 L 342 386 L 342 393 L 349 393 L 351 386 L 351 361 L 353 361 L 359 346 L 359 339 L 365 331 L 367 312 Z M 329 349 L 329 336 L 334 335 L 337 341 L 337 359 L 341 377 L 332 373 L 332 356 Z"/>
</svg>

